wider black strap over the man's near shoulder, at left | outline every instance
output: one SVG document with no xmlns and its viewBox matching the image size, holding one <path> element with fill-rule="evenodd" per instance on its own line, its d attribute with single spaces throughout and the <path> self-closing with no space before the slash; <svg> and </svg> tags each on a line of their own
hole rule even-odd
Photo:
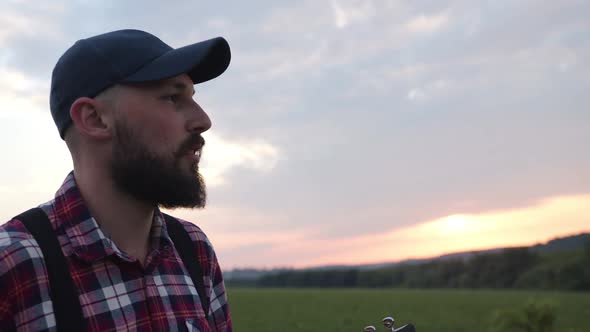
<svg viewBox="0 0 590 332">
<path fill-rule="evenodd" d="M 86 331 L 86 320 L 82 313 L 80 299 L 49 218 L 42 209 L 33 208 L 14 219 L 20 220 L 27 227 L 45 258 L 49 295 L 53 302 L 57 330 Z"/>
</svg>

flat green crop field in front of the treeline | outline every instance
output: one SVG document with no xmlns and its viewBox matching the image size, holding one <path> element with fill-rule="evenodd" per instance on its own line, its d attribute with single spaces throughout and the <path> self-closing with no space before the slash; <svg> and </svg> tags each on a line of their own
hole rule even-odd
<svg viewBox="0 0 590 332">
<path fill-rule="evenodd" d="M 555 332 L 590 331 L 590 293 L 505 290 L 230 288 L 236 331 L 362 331 L 392 315 L 418 332 L 485 332 L 494 312 L 528 301 L 556 307 Z"/>
</svg>

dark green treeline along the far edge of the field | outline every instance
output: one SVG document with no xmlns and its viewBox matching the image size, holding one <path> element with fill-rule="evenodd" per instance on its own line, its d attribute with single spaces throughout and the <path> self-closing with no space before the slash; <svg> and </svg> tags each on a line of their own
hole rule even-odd
<svg viewBox="0 0 590 332">
<path fill-rule="evenodd" d="M 383 268 L 286 270 L 253 280 L 231 280 L 231 286 L 255 287 L 406 287 L 526 288 L 590 290 L 590 242 L 583 249 L 538 253 L 511 248 Z"/>
</svg>

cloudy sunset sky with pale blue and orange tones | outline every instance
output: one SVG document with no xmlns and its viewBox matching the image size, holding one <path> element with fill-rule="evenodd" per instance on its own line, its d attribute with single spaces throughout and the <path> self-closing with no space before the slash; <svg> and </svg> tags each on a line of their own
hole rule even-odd
<svg viewBox="0 0 590 332">
<path fill-rule="evenodd" d="M 0 223 L 72 162 L 49 112 L 76 40 L 225 37 L 199 225 L 224 269 L 398 261 L 590 231 L 590 2 L 0 3 Z"/>
</svg>

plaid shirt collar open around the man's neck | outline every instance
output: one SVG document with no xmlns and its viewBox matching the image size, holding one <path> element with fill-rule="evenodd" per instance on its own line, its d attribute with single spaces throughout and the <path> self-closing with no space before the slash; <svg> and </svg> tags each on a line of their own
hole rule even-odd
<svg viewBox="0 0 590 332">
<path fill-rule="evenodd" d="M 74 172 L 68 174 L 62 186 L 55 194 L 55 220 L 64 227 L 75 255 L 87 262 L 94 262 L 111 255 L 132 261 L 132 257 L 123 252 L 112 239 L 105 234 L 94 217 L 90 214 L 76 184 Z M 166 231 L 164 216 L 159 209 L 154 213 L 150 229 L 150 250 L 148 257 L 169 254 L 172 241 Z M 150 258 L 150 260 L 152 260 Z"/>
</svg>

